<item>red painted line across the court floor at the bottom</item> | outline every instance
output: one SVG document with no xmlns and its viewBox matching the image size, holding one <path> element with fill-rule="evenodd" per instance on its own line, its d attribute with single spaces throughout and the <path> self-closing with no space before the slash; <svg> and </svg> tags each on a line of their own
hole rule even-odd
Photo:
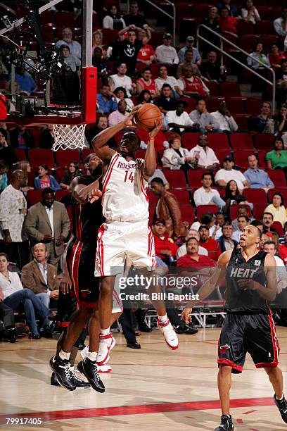
<svg viewBox="0 0 287 431">
<path fill-rule="evenodd" d="M 254 406 L 274 406 L 273 398 L 243 398 L 231 400 L 231 408 Z M 174 411 L 213 410 L 220 408 L 218 400 L 192 401 L 183 403 L 145 404 L 139 406 L 117 406 L 81 408 L 77 410 L 42 411 L 0 415 L 0 425 L 9 418 L 41 418 L 42 420 L 65 420 L 79 418 L 103 418 L 105 416 L 144 415 L 148 413 L 171 413 Z"/>
</svg>

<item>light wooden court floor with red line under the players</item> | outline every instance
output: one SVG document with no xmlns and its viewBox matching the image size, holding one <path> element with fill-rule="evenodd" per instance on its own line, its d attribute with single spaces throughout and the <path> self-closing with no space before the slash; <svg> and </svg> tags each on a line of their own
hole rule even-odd
<svg viewBox="0 0 287 431">
<path fill-rule="evenodd" d="M 287 328 L 277 329 L 280 365 L 287 387 Z M 158 331 L 138 337 L 141 350 L 127 349 L 115 334 L 106 392 L 50 386 L 49 358 L 56 340 L 23 339 L 0 344 L 0 428 L 3 430 L 214 430 L 219 424 L 217 339 L 219 329 L 179 335 L 177 351 Z M 287 389 L 286 389 L 287 394 Z M 236 430 L 287 430 L 272 399 L 264 370 L 250 357 L 231 392 Z M 18 425 L 7 424 L 17 418 Z M 33 422 L 34 420 L 34 422 Z M 22 421 L 22 423 L 21 423 Z M 26 421 L 26 425 L 24 425 Z M 28 422 L 29 421 L 29 422 Z M 40 422 L 41 425 L 36 425 Z"/>
</svg>

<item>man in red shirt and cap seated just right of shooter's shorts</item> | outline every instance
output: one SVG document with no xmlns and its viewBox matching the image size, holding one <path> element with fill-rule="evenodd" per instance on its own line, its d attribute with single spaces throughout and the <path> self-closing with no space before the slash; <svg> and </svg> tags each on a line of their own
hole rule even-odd
<svg viewBox="0 0 287 431">
<path fill-rule="evenodd" d="M 170 261 L 173 261 L 177 254 L 178 246 L 174 244 L 173 239 L 167 235 L 165 220 L 155 220 L 153 224 L 153 237 L 155 240 L 156 256 L 160 257 L 162 261 L 169 265 Z"/>
</svg>

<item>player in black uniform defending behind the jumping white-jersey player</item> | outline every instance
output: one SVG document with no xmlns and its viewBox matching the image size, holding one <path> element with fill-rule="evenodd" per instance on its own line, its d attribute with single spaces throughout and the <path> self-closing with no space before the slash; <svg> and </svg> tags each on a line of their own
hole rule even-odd
<svg viewBox="0 0 287 431">
<path fill-rule="evenodd" d="M 103 223 L 99 200 L 101 192 L 98 190 L 98 178 L 101 177 L 103 163 L 93 153 L 87 157 L 85 167 L 91 175 L 76 177 L 71 185 L 72 196 L 76 201 L 72 206 L 74 237 L 68 244 L 61 282 L 61 288 L 66 289 L 67 292 L 73 285 L 79 308 L 72 316 L 62 349 L 58 355 L 51 358 L 50 365 L 61 386 L 69 390 L 75 390 L 78 387 L 75 375 L 70 372 L 70 352 L 83 327 L 89 323 L 89 353 L 77 368 L 87 377 L 93 389 L 104 392 L 105 387 L 98 376 L 96 366 L 99 332 L 96 308 L 99 280 L 94 277 L 96 239 L 98 227 Z M 117 314 L 114 314 L 113 320 L 117 317 Z"/>
</svg>

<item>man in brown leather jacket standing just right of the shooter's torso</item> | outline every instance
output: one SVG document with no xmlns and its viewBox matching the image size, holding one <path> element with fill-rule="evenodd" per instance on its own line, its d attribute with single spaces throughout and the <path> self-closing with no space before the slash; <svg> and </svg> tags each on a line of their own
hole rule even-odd
<svg viewBox="0 0 287 431">
<path fill-rule="evenodd" d="M 160 178 L 153 179 L 151 189 L 155 196 L 160 198 L 155 208 L 155 218 L 165 220 L 167 235 L 173 239 L 186 235 L 186 226 L 181 220 L 179 201 L 174 194 L 167 192 Z"/>
</svg>

